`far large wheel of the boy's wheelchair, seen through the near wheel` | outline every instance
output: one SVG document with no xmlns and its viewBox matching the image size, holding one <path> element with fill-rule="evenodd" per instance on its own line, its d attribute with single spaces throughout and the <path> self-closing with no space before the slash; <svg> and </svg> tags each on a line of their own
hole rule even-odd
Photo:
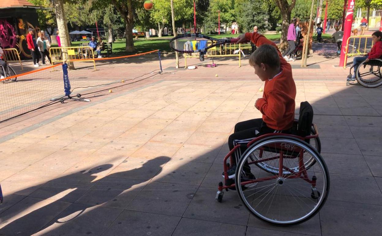
<svg viewBox="0 0 382 236">
<path fill-rule="evenodd" d="M 312 128 L 311 129 L 311 135 L 315 135 L 316 132 L 314 131 L 314 129 Z M 307 140 L 305 140 L 307 141 Z M 309 140 L 308 141 L 309 144 L 318 151 L 318 153 L 321 153 L 321 141 L 320 141 L 320 138 L 319 137 L 316 137 L 312 140 Z M 251 161 L 256 161 L 256 160 L 264 160 L 264 158 L 268 158 L 266 156 L 263 155 L 264 153 L 252 153 L 251 156 L 249 157 L 249 159 Z M 305 165 L 305 168 L 306 169 L 309 169 L 311 168 L 314 163 L 315 163 L 315 160 L 314 158 L 304 158 L 304 165 Z M 261 169 L 263 169 L 264 171 L 267 171 L 269 173 L 272 173 L 272 174 L 276 174 L 278 173 L 278 165 L 274 165 L 274 161 L 261 161 L 261 162 L 257 162 L 256 165 L 259 166 Z M 295 166 L 295 167 L 290 167 L 293 171 L 297 171 L 298 170 L 298 166 Z M 285 171 L 285 174 L 288 174 L 289 172 L 284 170 Z"/>
</svg>

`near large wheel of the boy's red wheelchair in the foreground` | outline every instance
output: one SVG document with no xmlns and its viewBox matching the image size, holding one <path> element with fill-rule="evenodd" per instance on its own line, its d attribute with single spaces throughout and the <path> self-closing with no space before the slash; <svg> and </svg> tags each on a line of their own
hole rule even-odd
<svg viewBox="0 0 382 236">
<path fill-rule="evenodd" d="M 259 168 L 250 156 L 268 153 L 279 166 L 272 174 Z M 304 158 L 314 159 L 310 169 L 304 168 Z M 261 161 L 261 160 L 260 160 Z M 301 164 L 298 164 L 301 163 Z M 297 171 L 290 167 L 300 166 Z M 246 188 L 236 188 L 241 201 L 254 216 L 275 225 L 295 225 L 312 218 L 324 205 L 329 193 L 329 172 L 320 154 L 308 143 L 294 137 L 273 136 L 254 143 L 241 157 L 236 176 L 248 171 L 256 180 L 240 182 Z M 285 174 L 286 173 L 286 174 Z"/>
</svg>

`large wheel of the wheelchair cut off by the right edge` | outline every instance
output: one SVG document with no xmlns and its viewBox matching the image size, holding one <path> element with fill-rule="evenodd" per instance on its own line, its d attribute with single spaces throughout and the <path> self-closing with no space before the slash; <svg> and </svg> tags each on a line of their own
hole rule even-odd
<svg viewBox="0 0 382 236">
<path fill-rule="evenodd" d="M 382 60 L 380 59 L 361 62 L 356 71 L 358 83 L 366 88 L 376 88 L 382 85 L 381 67 Z"/>
</svg>

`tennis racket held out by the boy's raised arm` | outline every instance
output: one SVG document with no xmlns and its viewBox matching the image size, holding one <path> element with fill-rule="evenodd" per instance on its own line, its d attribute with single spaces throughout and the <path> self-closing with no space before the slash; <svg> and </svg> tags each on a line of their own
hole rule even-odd
<svg viewBox="0 0 382 236">
<path fill-rule="evenodd" d="M 203 34 L 181 34 L 170 40 L 170 48 L 176 52 L 204 52 L 207 49 L 227 43 L 236 43 L 239 39 L 215 39 Z"/>
</svg>

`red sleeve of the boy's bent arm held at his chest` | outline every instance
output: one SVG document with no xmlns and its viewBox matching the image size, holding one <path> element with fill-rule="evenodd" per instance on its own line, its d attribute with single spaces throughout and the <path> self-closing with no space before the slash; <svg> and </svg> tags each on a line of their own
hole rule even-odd
<svg viewBox="0 0 382 236">
<path fill-rule="evenodd" d="M 276 122 L 282 120 L 285 113 L 286 104 L 286 100 L 283 97 L 283 94 L 274 90 L 269 91 L 267 93 L 267 100 L 268 101 L 266 101 L 264 98 L 261 98 L 256 103 L 256 107 L 259 108 L 261 114 Z"/>
</svg>

